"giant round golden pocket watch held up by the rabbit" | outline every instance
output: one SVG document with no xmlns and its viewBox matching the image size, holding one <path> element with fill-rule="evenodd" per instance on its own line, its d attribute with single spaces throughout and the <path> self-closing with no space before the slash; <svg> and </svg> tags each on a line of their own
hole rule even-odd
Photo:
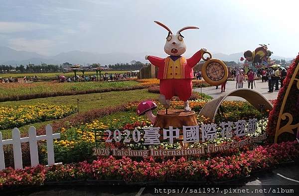
<svg viewBox="0 0 299 196">
<path fill-rule="evenodd" d="M 204 58 L 204 54 L 208 54 L 210 57 Z M 206 83 L 218 86 L 227 80 L 228 69 L 223 61 L 212 59 L 212 55 L 209 52 L 202 53 L 201 58 L 205 61 L 201 68 L 201 74 Z"/>
</svg>

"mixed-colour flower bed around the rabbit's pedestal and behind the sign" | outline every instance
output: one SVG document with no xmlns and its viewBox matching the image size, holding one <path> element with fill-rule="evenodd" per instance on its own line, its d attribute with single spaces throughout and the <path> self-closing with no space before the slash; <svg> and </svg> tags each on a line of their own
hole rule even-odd
<svg viewBox="0 0 299 196">
<path fill-rule="evenodd" d="M 197 112 L 197 121 L 199 123 L 211 123 L 209 118 L 200 116 L 198 112 L 204 106 L 204 104 L 210 100 L 209 96 L 204 94 L 197 94 L 199 96 L 196 100 L 190 100 L 190 107 Z M 153 110 L 153 113 L 156 114 L 157 110 L 162 109 L 162 105 L 155 100 L 158 107 Z M 84 160 L 92 161 L 94 157 L 92 156 L 92 148 L 95 147 L 95 132 L 99 131 L 100 134 L 97 139 L 104 141 L 103 129 L 134 129 L 136 127 L 143 128 L 149 126 L 150 122 L 146 116 L 138 116 L 136 114 L 136 107 L 139 102 L 131 102 L 116 107 L 93 109 L 88 112 L 82 112 L 80 114 L 75 114 L 63 118 L 58 121 L 54 121 L 51 125 L 53 126 L 54 132 L 61 133 L 61 139 L 55 141 L 54 150 L 55 150 L 55 159 L 58 162 L 63 163 L 72 163 L 79 162 Z M 217 114 L 216 123 L 220 120 L 239 120 L 239 116 L 243 116 L 244 119 L 249 117 L 255 117 L 260 119 L 260 113 L 249 103 L 244 101 L 224 101 L 222 104 L 222 114 Z M 180 100 L 171 100 L 171 108 L 183 108 L 183 101 Z M 244 109 L 245 108 L 245 109 Z M 251 115 L 249 115 L 251 114 Z M 223 117 L 224 116 L 224 117 Z M 267 115 L 265 115 L 266 117 Z M 264 120 L 264 130 L 265 130 Z M 258 124 L 259 133 L 261 133 L 261 122 Z M 42 126 L 38 128 L 37 135 L 45 134 L 45 127 Z M 26 137 L 27 134 L 22 134 L 22 137 Z M 225 142 L 222 139 L 217 139 L 212 143 L 220 144 Z M 102 144 L 105 144 L 103 142 Z M 117 146 L 124 146 L 120 143 L 115 143 Z M 192 145 L 190 145 L 192 146 Z M 196 147 L 197 144 L 194 144 Z M 145 149 L 147 148 L 143 144 L 130 144 L 130 146 L 125 145 L 124 147 L 130 147 L 132 149 Z M 180 148 L 179 143 L 170 145 L 167 142 L 163 142 L 161 145 L 162 148 L 174 149 Z M 38 150 L 40 154 L 40 163 L 46 163 L 46 148 L 45 145 L 40 142 L 38 143 Z M 30 164 L 29 158 L 29 148 L 26 143 L 22 144 L 23 152 L 23 164 L 28 166 Z M 5 147 L 4 153 L 9 155 L 12 153 L 12 149 Z M 9 157 L 9 156 L 7 156 Z M 11 156 L 8 160 L 5 161 L 7 164 L 13 163 Z"/>
</svg>

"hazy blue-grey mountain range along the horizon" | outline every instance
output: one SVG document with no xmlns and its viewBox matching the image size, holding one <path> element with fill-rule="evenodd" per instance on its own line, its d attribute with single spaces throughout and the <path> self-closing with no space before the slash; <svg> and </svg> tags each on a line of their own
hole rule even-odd
<svg viewBox="0 0 299 196">
<path fill-rule="evenodd" d="M 83 51 L 70 51 L 59 53 L 56 56 L 44 56 L 34 52 L 26 51 L 17 51 L 8 47 L 0 46 L 0 64 L 3 65 L 27 65 L 29 62 L 31 64 L 40 64 L 45 62 L 46 64 L 62 64 L 69 62 L 71 64 L 92 64 L 100 63 L 102 65 L 109 65 L 115 63 L 130 63 L 132 60 L 146 62 L 145 55 L 147 52 L 141 53 L 108 53 L 108 54 L 99 54 L 93 52 L 83 52 Z M 166 54 L 153 54 L 160 57 L 166 56 Z M 188 57 L 188 55 L 186 55 Z M 189 55 L 190 56 L 190 55 Z M 214 53 L 213 58 L 221 59 L 223 61 L 236 61 L 243 56 L 243 52 L 235 54 L 223 54 L 223 53 Z M 286 58 L 280 56 L 271 56 L 272 59 L 285 59 L 286 61 L 292 60 L 293 58 Z"/>
</svg>

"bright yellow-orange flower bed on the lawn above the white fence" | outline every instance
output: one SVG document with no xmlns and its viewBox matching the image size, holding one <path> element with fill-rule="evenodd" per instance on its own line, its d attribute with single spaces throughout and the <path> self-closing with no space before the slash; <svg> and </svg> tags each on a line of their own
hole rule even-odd
<svg viewBox="0 0 299 196">
<path fill-rule="evenodd" d="M 0 107 L 0 129 L 19 127 L 25 124 L 59 119 L 76 112 L 76 107 L 68 105 L 18 105 Z"/>
</svg>

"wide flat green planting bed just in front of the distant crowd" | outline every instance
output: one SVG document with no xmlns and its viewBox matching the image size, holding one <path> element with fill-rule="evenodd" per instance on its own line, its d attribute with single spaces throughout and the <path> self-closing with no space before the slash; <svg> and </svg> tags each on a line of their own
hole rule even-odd
<svg viewBox="0 0 299 196">
<path fill-rule="evenodd" d="M 47 92 L 84 91 L 89 89 L 122 88 L 140 84 L 136 81 L 120 82 L 38 82 L 38 83 L 3 83 L 0 84 L 0 96 L 27 95 Z"/>
</svg>

